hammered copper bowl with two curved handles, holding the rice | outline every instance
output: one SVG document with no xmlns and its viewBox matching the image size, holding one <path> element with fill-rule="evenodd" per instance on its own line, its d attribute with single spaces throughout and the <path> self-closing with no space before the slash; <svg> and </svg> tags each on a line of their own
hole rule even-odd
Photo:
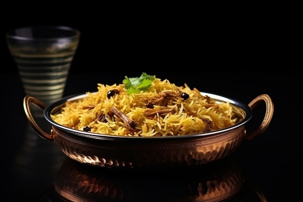
<svg viewBox="0 0 303 202">
<path fill-rule="evenodd" d="M 45 107 L 32 96 L 25 96 L 24 110 L 36 133 L 45 140 L 54 141 L 61 151 L 81 163 L 106 168 L 179 167 L 206 164 L 225 158 L 234 152 L 243 140 L 252 140 L 262 134 L 273 116 L 273 102 L 269 95 L 261 94 L 248 105 L 213 93 L 201 92 L 217 103 L 229 101 L 240 121 L 233 126 L 202 134 L 167 137 L 121 137 L 94 134 L 65 127 L 54 122 L 50 115 L 61 110 L 67 100 L 81 99 L 86 94 L 71 95 Z M 245 124 L 253 109 L 263 101 L 266 104 L 262 123 L 253 132 L 246 132 Z M 43 110 L 45 120 L 51 124 L 45 132 L 35 121 L 31 104 Z"/>
</svg>

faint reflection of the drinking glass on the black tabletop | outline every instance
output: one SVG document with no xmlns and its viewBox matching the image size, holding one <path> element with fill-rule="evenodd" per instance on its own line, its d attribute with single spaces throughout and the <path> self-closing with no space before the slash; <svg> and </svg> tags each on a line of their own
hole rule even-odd
<svg viewBox="0 0 303 202">
<path fill-rule="evenodd" d="M 44 128 L 50 127 L 43 124 L 44 118 L 35 118 Z M 59 171 L 65 160 L 59 147 L 51 141 L 46 141 L 36 134 L 30 124 L 27 124 L 23 144 L 16 154 L 12 177 L 15 179 L 11 190 L 11 199 L 20 198 L 22 201 L 34 201 L 36 191 L 45 189 L 45 183 L 51 184 L 54 176 Z"/>
</svg>

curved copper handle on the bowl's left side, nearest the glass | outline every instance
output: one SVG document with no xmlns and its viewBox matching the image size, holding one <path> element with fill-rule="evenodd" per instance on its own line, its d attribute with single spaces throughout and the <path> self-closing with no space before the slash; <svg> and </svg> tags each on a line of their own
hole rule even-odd
<svg viewBox="0 0 303 202">
<path fill-rule="evenodd" d="M 26 114 L 26 117 L 28 119 L 28 121 L 30 122 L 30 125 L 32 126 L 32 128 L 35 130 L 35 132 L 42 137 L 45 140 L 53 140 L 53 136 L 46 133 L 44 130 L 42 130 L 38 124 L 36 123 L 36 121 L 34 120 L 34 117 L 31 113 L 31 109 L 30 109 L 30 104 L 34 104 L 35 106 L 39 107 L 40 109 L 44 110 L 45 109 L 45 104 L 43 104 L 41 101 L 37 100 L 36 98 L 30 96 L 30 95 L 26 95 L 23 99 L 23 108 Z"/>
</svg>

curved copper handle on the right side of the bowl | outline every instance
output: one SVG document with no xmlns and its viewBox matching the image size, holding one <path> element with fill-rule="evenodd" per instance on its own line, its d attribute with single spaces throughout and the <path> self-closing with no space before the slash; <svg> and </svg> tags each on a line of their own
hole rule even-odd
<svg viewBox="0 0 303 202">
<path fill-rule="evenodd" d="M 260 124 L 260 126 L 257 128 L 257 130 L 255 130 L 252 133 L 249 133 L 246 135 L 246 139 L 247 140 L 252 140 L 254 139 L 257 135 L 262 134 L 265 129 L 267 128 L 267 126 L 270 124 L 272 117 L 273 117 L 273 101 L 271 99 L 271 97 L 268 94 L 261 94 L 258 97 L 256 97 L 255 99 L 253 99 L 248 106 L 251 109 L 254 109 L 260 101 L 264 101 L 266 104 L 266 112 L 265 112 L 265 116 L 264 119 L 262 121 L 262 123 Z"/>
</svg>

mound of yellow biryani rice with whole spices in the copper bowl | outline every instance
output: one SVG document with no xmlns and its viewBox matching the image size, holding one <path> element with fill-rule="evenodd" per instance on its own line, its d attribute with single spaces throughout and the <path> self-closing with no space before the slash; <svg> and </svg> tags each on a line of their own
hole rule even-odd
<svg viewBox="0 0 303 202">
<path fill-rule="evenodd" d="M 117 92 L 111 97 L 107 93 Z M 161 96 L 166 93 L 168 96 Z M 187 93 L 188 99 L 179 96 Z M 76 130 L 90 128 L 91 133 L 116 136 L 178 136 L 199 134 L 219 130 L 237 122 L 229 102 L 216 103 L 212 98 L 201 95 L 187 84 L 176 86 L 168 79 L 154 76 L 152 86 L 147 91 L 127 94 L 124 84 L 105 85 L 98 83 L 97 92 L 87 92 L 87 97 L 76 101 L 67 101 L 65 106 L 51 118 L 64 126 Z M 176 94 L 178 96 L 170 96 Z M 153 103 L 149 109 L 147 104 Z M 111 111 L 111 107 L 121 110 L 136 127 L 129 127 Z M 170 110 L 168 113 L 159 113 Z M 149 115 L 147 112 L 154 113 Z M 100 116 L 104 116 L 100 121 Z"/>
</svg>

